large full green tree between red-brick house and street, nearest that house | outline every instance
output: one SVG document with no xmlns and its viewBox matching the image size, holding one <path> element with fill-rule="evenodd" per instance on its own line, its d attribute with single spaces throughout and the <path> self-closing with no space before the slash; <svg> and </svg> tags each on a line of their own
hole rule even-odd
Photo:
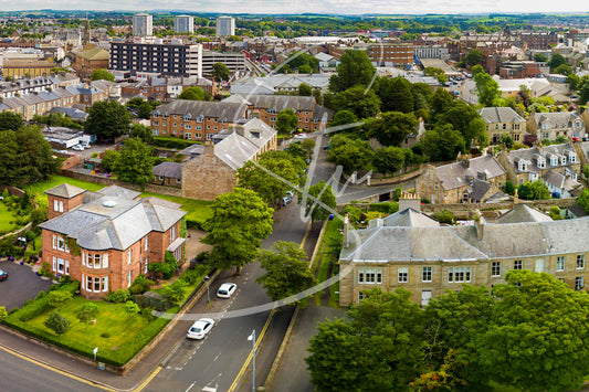
<svg viewBox="0 0 589 392">
<path fill-rule="evenodd" d="M 213 245 L 212 265 L 221 269 L 240 268 L 257 256 L 261 240 L 272 233 L 273 209 L 252 190 L 235 188 L 211 205 L 213 215 L 202 224 L 202 243 Z"/>
</svg>

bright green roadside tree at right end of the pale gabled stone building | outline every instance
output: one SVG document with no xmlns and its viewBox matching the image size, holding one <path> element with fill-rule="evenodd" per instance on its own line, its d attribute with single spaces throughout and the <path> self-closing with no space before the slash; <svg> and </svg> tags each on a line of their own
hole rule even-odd
<svg viewBox="0 0 589 392">
<path fill-rule="evenodd" d="M 257 162 L 250 160 L 238 169 L 238 184 L 255 191 L 267 204 L 277 205 L 291 189 L 287 182 L 302 183 L 305 167 L 302 158 L 287 151 L 267 151 L 260 156 Z"/>
</svg>

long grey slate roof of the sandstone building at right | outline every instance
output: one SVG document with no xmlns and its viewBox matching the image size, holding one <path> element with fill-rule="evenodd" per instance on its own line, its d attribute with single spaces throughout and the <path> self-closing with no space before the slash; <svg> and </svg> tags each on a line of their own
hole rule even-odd
<svg viewBox="0 0 589 392">
<path fill-rule="evenodd" d="M 525 208 L 523 208 L 525 209 Z M 529 219 L 526 211 L 517 212 Z M 532 214 L 533 215 L 533 214 Z M 515 219 L 514 219 L 515 220 Z M 579 233 L 589 231 L 589 218 L 518 223 L 485 223 L 478 239 L 476 225 L 381 226 L 349 232 L 344 261 L 464 261 L 575 254 L 589 251 Z"/>
</svg>

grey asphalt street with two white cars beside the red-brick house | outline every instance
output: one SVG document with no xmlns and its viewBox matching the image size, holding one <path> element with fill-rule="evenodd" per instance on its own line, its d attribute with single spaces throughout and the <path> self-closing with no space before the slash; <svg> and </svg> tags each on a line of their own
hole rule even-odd
<svg viewBox="0 0 589 392">
<path fill-rule="evenodd" d="M 275 241 L 301 242 L 305 234 L 307 222 L 301 220 L 299 208 L 291 203 L 287 208 L 275 213 L 273 234 L 263 241 L 263 247 L 271 247 Z M 271 299 L 265 290 L 255 283 L 255 278 L 262 274 L 259 263 L 246 265 L 241 276 L 232 277 L 224 273 L 221 278 L 211 286 L 211 294 L 222 282 L 235 282 L 239 290 L 232 299 L 221 300 L 212 298 L 209 308 L 203 311 L 233 311 L 248 309 L 257 305 L 267 304 Z M 171 356 L 164 363 L 162 371 L 147 385 L 144 391 L 171 392 L 171 391 L 228 391 L 240 374 L 243 363 L 246 361 L 252 342 L 248 340 L 252 330 L 260 337 L 266 324 L 270 311 L 246 312 L 245 316 L 215 319 L 217 324 L 209 336 L 202 341 L 189 341 L 183 338 L 173 349 Z M 231 315 L 231 312 L 225 314 Z M 270 330 L 273 339 L 282 337 L 287 328 L 288 318 L 277 315 L 272 321 Z M 280 345 L 280 339 L 277 339 Z M 270 356 L 271 357 L 271 356 Z M 257 362 L 257 360 L 256 360 Z M 256 369 L 259 382 L 263 383 L 263 369 Z M 243 373 L 242 382 L 251 382 L 251 374 Z"/>
</svg>

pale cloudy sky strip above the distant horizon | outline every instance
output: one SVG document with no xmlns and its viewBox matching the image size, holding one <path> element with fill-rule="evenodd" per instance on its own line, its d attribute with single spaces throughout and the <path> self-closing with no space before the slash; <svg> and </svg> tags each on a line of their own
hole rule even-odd
<svg viewBox="0 0 589 392">
<path fill-rule="evenodd" d="M 132 10 L 179 9 L 231 13 L 411 14 L 478 12 L 587 12 L 580 0 L 0 0 L 0 9 L 14 10 Z"/>
</svg>

